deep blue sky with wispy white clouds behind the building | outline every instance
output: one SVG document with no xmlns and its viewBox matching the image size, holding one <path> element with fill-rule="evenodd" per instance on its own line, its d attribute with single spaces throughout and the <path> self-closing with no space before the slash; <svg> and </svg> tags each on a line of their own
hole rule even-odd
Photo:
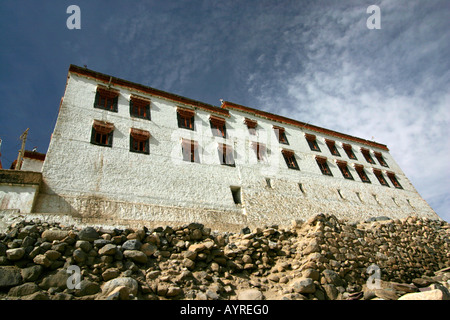
<svg viewBox="0 0 450 320">
<path fill-rule="evenodd" d="M 69 5 L 81 29 L 69 30 Z M 366 13 L 378 5 L 381 29 Z M 70 64 L 388 145 L 450 221 L 450 1 L 0 3 L 0 138 L 46 152 Z"/>
</svg>

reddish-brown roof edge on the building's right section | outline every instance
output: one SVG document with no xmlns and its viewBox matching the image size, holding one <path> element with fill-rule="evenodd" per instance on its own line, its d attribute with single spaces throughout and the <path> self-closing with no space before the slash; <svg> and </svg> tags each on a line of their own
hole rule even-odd
<svg viewBox="0 0 450 320">
<path fill-rule="evenodd" d="M 252 114 L 255 114 L 255 115 L 258 115 L 258 116 L 262 116 L 262 117 L 267 118 L 267 119 L 272 120 L 272 121 L 278 121 L 278 122 L 281 122 L 281 123 L 294 125 L 294 126 L 297 126 L 297 127 L 301 127 L 301 128 L 304 128 L 304 129 L 311 130 L 311 131 L 320 132 L 320 133 L 327 134 L 327 135 L 330 135 L 330 136 L 334 136 L 334 137 L 338 137 L 338 138 L 341 138 L 341 139 L 358 142 L 358 143 L 361 143 L 361 144 L 365 144 L 367 146 L 371 146 L 371 147 L 379 148 L 379 149 L 382 149 L 382 150 L 385 150 L 385 151 L 389 151 L 389 148 L 386 145 L 378 143 L 378 142 L 369 141 L 369 140 L 365 140 L 365 139 L 362 139 L 362 138 L 357 138 L 357 137 L 354 137 L 354 136 L 351 136 L 351 135 L 348 135 L 348 134 L 340 133 L 340 132 L 333 131 L 333 130 L 330 130 L 330 129 L 321 128 L 321 127 L 318 127 L 318 126 L 315 126 L 315 125 L 312 125 L 312 124 L 307 124 L 307 123 L 304 123 L 304 122 L 301 122 L 301 121 L 297 121 L 297 120 L 293 120 L 293 119 L 286 118 L 286 117 L 283 117 L 283 116 L 279 116 L 279 115 L 276 115 L 276 114 L 273 114 L 273 113 L 270 113 L 270 112 L 261 111 L 261 110 L 253 109 L 253 108 L 249 108 L 249 107 L 245 107 L 245 106 L 233 103 L 233 102 L 224 101 L 223 104 L 222 104 L 222 108 L 231 108 L 231 109 L 235 109 L 235 110 L 240 110 L 240 111 L 252 113 Z"/>
</svg>

